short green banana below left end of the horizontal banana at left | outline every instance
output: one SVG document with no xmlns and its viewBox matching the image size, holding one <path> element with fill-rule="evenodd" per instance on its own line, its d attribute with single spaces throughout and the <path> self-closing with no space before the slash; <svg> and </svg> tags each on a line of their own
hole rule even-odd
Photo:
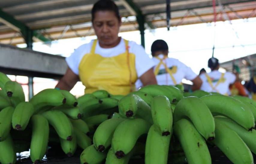
<svg viewBox="0 0 256 164">
<path fill-rule="evenodd" d="M 12 115 L 12 127 L 16 130 L 26 129 L 31 116 L 34 114 L 34 107 L 29 102 L 21 102 L 14 109 Z"/>
</svg>

